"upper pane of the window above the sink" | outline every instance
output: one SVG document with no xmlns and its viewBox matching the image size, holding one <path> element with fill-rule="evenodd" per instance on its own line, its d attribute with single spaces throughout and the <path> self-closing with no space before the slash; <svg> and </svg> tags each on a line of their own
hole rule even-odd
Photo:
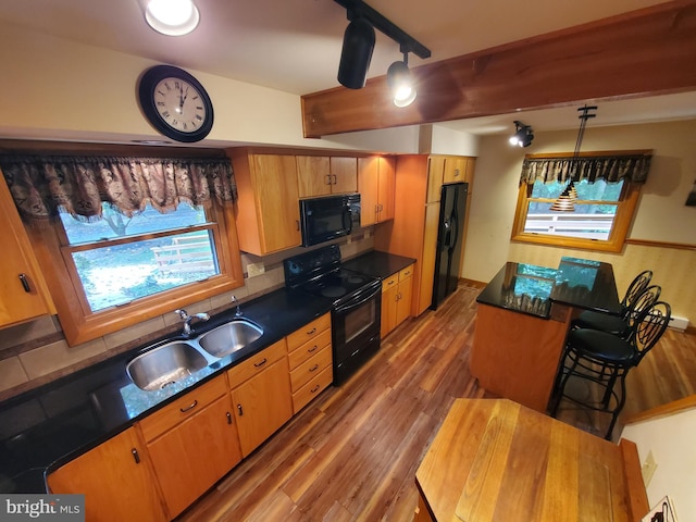
<svg viewBox="0 0 696 522">
<path fill-rule="evenodd" d="M 200 225 L 207 222 L 203 209 L 194 209 L 188 203 L 181 203 L 174 212 L 160 213 L 149 203 L 146 209 L 133 217 L 126 217 L 102 203 L 103 219 L 90 223 L 75 220 L 70 214 L 61 213 L 63 228 L 71 245 L 113 239 L 116 237 L 137 236 L 149 232 L 162 232 Z"/>
</svg>

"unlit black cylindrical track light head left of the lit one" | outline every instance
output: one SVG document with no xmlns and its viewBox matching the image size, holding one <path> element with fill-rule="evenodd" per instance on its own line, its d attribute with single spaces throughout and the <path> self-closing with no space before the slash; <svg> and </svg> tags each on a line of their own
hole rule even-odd
<svg viewBox="0 0 696 522">
<path fill-rule="evenodd" d="M 350 21 L 344 34 L 344 47 L 338 64 L 338 82 L 349 89 L 365 86 L 372 50 L 374 49 L 374 27 L 362 16 Z"/>
</svg>

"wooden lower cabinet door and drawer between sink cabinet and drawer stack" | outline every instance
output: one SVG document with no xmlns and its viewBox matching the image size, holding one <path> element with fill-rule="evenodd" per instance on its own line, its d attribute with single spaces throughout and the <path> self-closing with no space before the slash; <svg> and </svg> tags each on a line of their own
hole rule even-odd
<svg viewBox="0 0 696 522">
<path fill-rule="evenodd" d="M 233 368 L 228 377 L 241 455 L 247 457 L 293 417 L 286 340 Z"/>
</svg>

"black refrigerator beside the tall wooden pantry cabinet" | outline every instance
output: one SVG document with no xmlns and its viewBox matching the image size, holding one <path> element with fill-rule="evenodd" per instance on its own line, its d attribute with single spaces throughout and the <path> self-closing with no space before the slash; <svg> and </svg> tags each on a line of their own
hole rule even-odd
<svg viewBox="0 0 696 522">
<path fill-rule="evenodd" d="M 443 185 L 439 200 L 433 302 L 431 304 L 433 310 L 436 310 L 437 306 L 457 288 L 468 191 L 469 184 L 467 183 Z"/>
</svg>

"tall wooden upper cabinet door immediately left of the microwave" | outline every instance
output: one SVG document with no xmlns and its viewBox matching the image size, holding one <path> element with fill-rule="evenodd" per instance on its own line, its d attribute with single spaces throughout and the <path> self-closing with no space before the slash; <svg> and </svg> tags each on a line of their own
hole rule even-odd
<svg viewBox="0 0 696 522">
<path fill-rule="evenodd" d="M 300 208 L 295 157 L 254 154 L 252 160 L 263 253 L 299 246 Z"/>
</svg>

